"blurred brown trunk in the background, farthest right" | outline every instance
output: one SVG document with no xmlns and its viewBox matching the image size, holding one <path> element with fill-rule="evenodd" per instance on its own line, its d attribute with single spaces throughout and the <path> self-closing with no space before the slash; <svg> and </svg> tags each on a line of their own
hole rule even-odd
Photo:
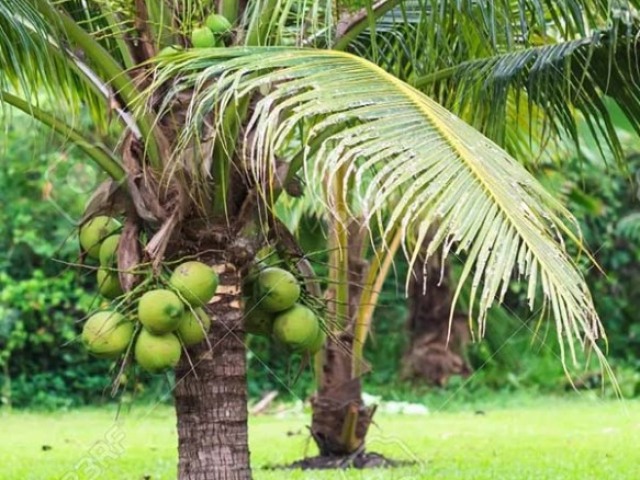
<svg viewBox="0 0 640 480">
<path fill-rule="evenodd" d="M 454 315 L 449 334 L 453 295 L 449 266 L 439 254 L 426 265 L 418 259 L 410 285 L 410 311 L 407 318 L 409 347 L 402 359 L 402 377 L 444 386 L 452 375 L 469 375 L 464 350 L 470 341 L 465 315 Z"/>
</svg>

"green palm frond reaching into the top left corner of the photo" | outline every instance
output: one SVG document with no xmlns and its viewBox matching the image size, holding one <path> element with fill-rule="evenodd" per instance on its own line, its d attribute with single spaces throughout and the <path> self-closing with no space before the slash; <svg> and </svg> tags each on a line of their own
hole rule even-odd
<svg viewBox="0 0 640 480">
<path fill-rule="evenodd" d="M 65 7 L 76 2 L 0 0 L 0 88 L 14 90 L 29 103 L 37 104 L 44 92 L 55 99 L 68 115 L 89 107 L 97 126 L 118 113 L 131 111 L 139 91 L 130 72 L 114 59 L 107 48 L 92 36 L 91 28 L 68 15 Z M 85 16 L 94 11 L 77 5 Z M 96 18 L 102 18 L 99 10 Z M 79 58 L 83 56 L 84 58 Z M 133 118 L 120 115 L 132 128 Z M 153 165 L 161 164 L 158 138 L 148 118 L 136 118 L 137 128 Z"/>
</svg>

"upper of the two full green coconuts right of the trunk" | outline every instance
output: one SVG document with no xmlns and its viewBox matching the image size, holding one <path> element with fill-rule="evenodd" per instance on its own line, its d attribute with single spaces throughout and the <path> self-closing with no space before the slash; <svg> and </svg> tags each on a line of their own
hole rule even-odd
<svg viewBox="0 0 640 480">
<path fill-rule="evenodd" d="M 291 308 L 300 297 L 300 284 L 287 270 L 265 268 L 256 279 L 255 295 L 261 309 L 282 312 Z"/>
</svg>

